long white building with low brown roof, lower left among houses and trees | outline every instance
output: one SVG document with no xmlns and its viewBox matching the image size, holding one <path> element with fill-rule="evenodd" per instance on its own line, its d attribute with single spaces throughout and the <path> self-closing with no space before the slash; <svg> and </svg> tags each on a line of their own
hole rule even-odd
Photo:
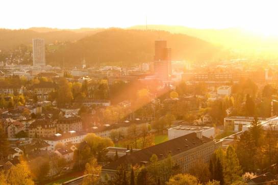
<svg viewBox="0 0 278 185">
<path fill-rule="evenodd" d="M 81 143 L 86 136 L 87 133 L 72 130 L 65 134 L 55 134 L 51 137 L 42 138 L 42 140 L 51 145 L 50 151 L 55 151 L 55 146 L 58 143 L 62 143 L 64 145 L 67 143 Z"/>
</svg>

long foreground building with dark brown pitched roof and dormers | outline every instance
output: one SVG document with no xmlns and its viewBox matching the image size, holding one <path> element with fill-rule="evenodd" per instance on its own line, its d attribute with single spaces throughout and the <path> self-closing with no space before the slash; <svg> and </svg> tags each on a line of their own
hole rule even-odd
<svg viewBox="0 0 278 185">
<path fill-rule="evenodd" d="M 221 147 L 221 142 L 202 136 L 201 133 L 191 133 L 175 138 L 155 146 L 144 148 L 139 151 L 127 153 L 113 161 L 102 169 L 102 175 L 108 174 L 113 178 L 120 165 L 148 165 L 153 154 L 163 161 L 170 154 L 175 165 L 180 166 L 182 172 L 187 172 L 194 167 L 197 161 L 209 162 L 214 151 Z"/>
</svg>

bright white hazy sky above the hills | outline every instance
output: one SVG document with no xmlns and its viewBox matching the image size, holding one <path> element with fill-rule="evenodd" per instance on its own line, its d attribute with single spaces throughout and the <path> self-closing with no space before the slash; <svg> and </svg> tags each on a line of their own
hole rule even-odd
<svg viewBox="0 0 278 185">
<path fill-rule="evenodd" d="M 243 27 L 278 32 L 276 1 L 247 0 L 1 0 L 0 28 Z"/>
</svg>

